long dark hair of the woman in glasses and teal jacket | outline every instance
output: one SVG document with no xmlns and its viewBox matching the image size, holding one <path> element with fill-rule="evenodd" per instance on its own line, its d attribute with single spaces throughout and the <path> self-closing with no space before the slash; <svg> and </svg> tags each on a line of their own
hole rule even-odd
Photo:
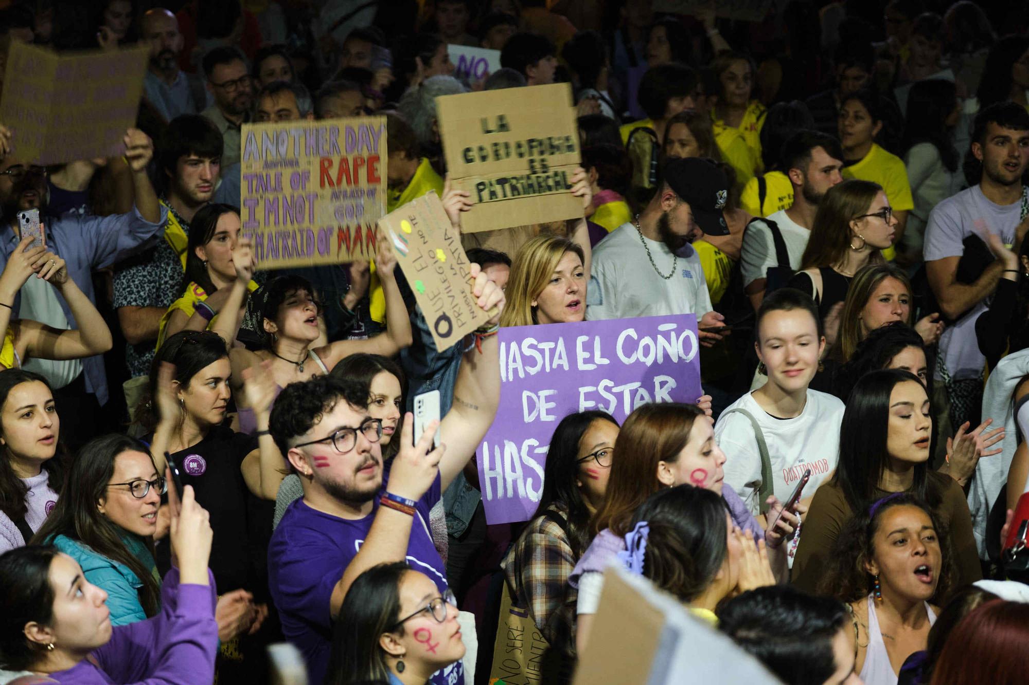
<svg viewBox="0 0 1029 685">
<path fill-rule="evenodd" d="M 161 583 L 151 569 L 146 568 L 122 541 L 122 536 L 133 534 L 97 508 L 100 500 L 107 497 L 107 483 L 114 475 L 114 460 L 125 452 L 150 455 L 145 444 L 118 433 L 86 442 L 71 463 L 68 485 L 61 492 L 54 511 L 36 531 L 32 544 L 49 544 L 52 538 L 64 535 L 87 545 L 98 554 L 123 564 L 143 583 L 137 590 L 143 611 L 147 616 L 155 616 L 161 610 Z M 152 463 L 152 457 L 150 461 Z M 153 554 L 153 539 L 136 537 Z"/>
</svg>

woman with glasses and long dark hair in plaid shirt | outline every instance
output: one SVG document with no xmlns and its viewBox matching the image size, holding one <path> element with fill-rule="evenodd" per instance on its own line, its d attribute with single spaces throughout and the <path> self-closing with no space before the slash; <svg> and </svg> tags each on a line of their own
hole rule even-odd
<svg viewBox="0 0 1029 685">
<path fill-rule="evenodd" d="M 567 587 L 568 577 L 590 546 L 590 517 L 604 502 L 616 437 L 618 424 L 606 411 L 561 420 L 546 452 L 536 513 L 500 564 L 511 606 L 529 612 L 553 649 L 554 658 L 541 665 L 547 682 L 568 680 L 574 665 L 577 592 Z M 567 673 L 547 671 L 562 662 Z"/>
</svg>

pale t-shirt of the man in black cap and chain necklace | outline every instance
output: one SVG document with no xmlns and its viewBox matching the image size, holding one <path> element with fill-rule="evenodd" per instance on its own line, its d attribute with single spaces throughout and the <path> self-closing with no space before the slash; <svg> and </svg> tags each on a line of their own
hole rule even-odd
<svg viewBox="0 0 1029 685">
<path fill-rule="evenodd" d="M 662 275 L 658 275 L 632 223 L 625 223 L 593 251 L 586 317 L 590 321 L 710 312 L 711 296 L 697 250 L 683 246 L 676 255 L 659 241 L 642 238 Z M 676 256 L 678 257 L 676 259 Z"/>
</svg>

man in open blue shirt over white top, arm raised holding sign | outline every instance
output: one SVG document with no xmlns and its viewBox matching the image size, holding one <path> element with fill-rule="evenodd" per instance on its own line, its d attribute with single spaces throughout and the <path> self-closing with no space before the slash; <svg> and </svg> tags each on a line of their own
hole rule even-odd
<svg viewBox="0 0 1029 685">
<path fill-rule="evenodd" d="M 105 217 L 75 213 L 57 217 L 47 212 L 45 170 L 33 165 L 31 159 L 21 158 L 16 152 L 4 154 L 9 149 L 7 141 L 9 133 L 0 125 L 0 216 L 10 227 L 5 238 L 0 237 L 0 269 L 21 242 L 17 213 L 37 209 L 47 249 L 66 260 L 68 275 L 96 303 L 93 272 L 107 268 L 153 245 L 168 218 L 146 174 L 147 165 L 153 157 L 153 144 L 142 131 L 130 129 L 126 133 L 125 156 L 136 199 L 131 212 Z M 12 308 L 12 317 L 33 319 L 64 330 L 76 327 L 68 302 L 57 289 L 40 279 L 29 279 L 13 302 L 0 304 Z M 98 430 L 102 431 L 104 426 L 113 429 L 114 422 L 120 419 L 101 411 L 108 399 L 102 356 L 67 361 L 34 359 L 24 368 L 47 377 L 59 409 L 68 405 L 61 409 L 66 418 L 61 437 L 73 449 Z"/>
</svg>

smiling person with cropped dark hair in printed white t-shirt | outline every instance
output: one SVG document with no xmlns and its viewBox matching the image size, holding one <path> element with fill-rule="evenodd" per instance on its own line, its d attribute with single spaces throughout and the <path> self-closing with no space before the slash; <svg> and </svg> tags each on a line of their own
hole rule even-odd
<svg viewBox="0 0 1029 685">
<path fill-rule="evenodd" d="M 715 437 L 725 453 L 726 484 L 756 516 L 768 511 L 773 497 L 787 501 L 810 471 L 801 499 L 808 505 L 836 468 L 844 405 L 808 387 L 825 347 L 811 297 L 792 288 L 776 290 L 761 300 L 754 325 L 754 349 L 768 381 L 722 411 Z M 790 563 L 800 534 L 790 545 Z"/>
</svg>

